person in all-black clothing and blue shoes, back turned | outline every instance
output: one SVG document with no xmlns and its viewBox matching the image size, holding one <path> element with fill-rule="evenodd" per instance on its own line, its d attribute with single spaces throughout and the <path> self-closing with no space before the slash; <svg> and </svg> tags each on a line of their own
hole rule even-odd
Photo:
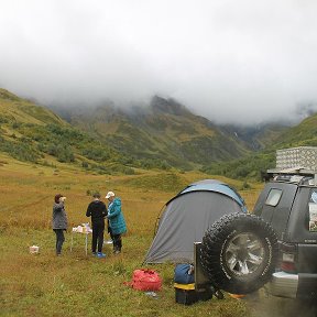
<svg viewBox="0 0 317 317">
<path fill-rule="evenodd" d="M 91 251 L 97 258 L 105 258 L 106 254 L 102 253 L 103 245 L 103 232 L 105 232 L 105 217 L 107 216 L 107 207 L 103 201 L 100 200 L 100 194 L 94 194 L 94 200 L 88 205 L 86 216 L 91 217 L 92 225 L 92 241 Z M 98 249 L 97 249 L 98 245 Z M 98 250 L 96 254 L 96 250 Z"/>
</svg>

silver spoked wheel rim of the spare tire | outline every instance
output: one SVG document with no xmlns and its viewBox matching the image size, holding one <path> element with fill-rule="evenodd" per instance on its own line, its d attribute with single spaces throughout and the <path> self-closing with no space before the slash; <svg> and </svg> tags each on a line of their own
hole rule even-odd
<svg viewBox="0 0 317 317">
<path fill-rule="evenodd" d="M 263 243 L 253 233 L 237 234 L 227 244 L 225 259 L 232 274 L 239 276 L 252 274 L 264 261 Z"/>
</svg>

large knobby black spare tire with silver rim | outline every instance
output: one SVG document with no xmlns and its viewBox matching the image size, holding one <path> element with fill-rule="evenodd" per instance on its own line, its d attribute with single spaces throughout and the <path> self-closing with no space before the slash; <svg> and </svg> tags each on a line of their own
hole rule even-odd
<svg viewBox="0 0 317 317">
<path fill-rule="evenodd" d="M 200 262 L 216 286 L 229 293 L 248 294 L 271 278 L 277 249 L 274 230 L 262 218 L 230 214 L 206 231 Z"/>
</svg>

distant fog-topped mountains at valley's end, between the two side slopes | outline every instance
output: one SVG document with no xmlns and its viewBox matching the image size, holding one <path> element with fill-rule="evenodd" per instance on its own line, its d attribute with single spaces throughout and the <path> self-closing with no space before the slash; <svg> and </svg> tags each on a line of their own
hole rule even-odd
<svg viewBox="0 0 317 317">
<path fill-rule="evenodd" d="M 177 155 L 197 163 L 239 157 L 248 151 L 261 150 L 288 128 L 281 122 L 253 127 L 217 124 L 193 113 L 177 100 L 160 96 L 154 96 L 147 105 L 130 108 L 119 108 L 108 101 L 91 108 L 51 109 L 72 125 L 111 140 L 118 150 L 130 149 L 140 157 L 149 156 L 150 152 L 152 155 L 178 152 Z M 138 151 L 135 144 L 140 146 Z"/>
</svg>

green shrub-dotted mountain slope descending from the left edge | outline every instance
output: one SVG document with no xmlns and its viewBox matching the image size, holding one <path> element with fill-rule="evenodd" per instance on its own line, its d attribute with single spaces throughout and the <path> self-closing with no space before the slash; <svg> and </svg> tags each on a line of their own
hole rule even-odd
<svg viewBox="0 0 317 317">
<path fill-rule="evenodd" d="M 51 110 L 0 89 L 0 152 L 37 164 L 70 163 L 100 173 L 120 171 L 127 157 L 73 128 Z"/>
</svg>

